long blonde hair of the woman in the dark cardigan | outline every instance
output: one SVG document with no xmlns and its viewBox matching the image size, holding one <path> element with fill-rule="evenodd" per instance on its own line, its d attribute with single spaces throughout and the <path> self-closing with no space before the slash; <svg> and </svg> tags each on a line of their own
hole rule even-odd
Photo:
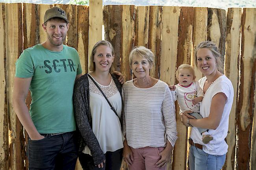
<svg viewBox="0 0 256 170">
<path fill-rule="evenodd" d="M 107 47 L 109 47 L 111 49 L 112 55 L 113 56 L 115 55 L 114 48 L 113 48 L 113 46 L 110 42 L 108 42 L 106 40 L 102 40 L 102 41 L 97 42 L 93 46 L 93 49 L 91 50 L 91 60 L 90 60 L 90 67 L 89 67 L 90 71 L 95 71 L 95 62 L 93 62 L 93 60 L 94 60 L 94 55 L 96 53 L 96 50 L 97 50 L 98 46 L 100 46 L 100 45 L 106 45 Z M 112 65 L 109 69 L 109 72 L 113 73 L 113 71 L 115 71 L 115 65 L 112 63 Z"/>
</svg>

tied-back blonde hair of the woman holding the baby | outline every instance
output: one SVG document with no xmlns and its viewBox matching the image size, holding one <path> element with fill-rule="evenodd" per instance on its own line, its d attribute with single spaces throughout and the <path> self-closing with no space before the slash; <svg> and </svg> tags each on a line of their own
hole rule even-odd
<svg viewBox="0 0 256 170">
<path fill-rule="evenodd" d="M 216 59 L 217 69 L 220 72 L 223 72 L 223 68 L 221 68 L 221 53 L 219 52 L 217 45 L 211 41 L 204 41 L 197 45 L 197 47 L 195 49 L 195 65 L 197 66 L 197 51 L 199 49 L 203 49 L 203 48 L 209 49 L 211 51 L 211 53 L 213 54 L 213 56 Z"/>
</svg>

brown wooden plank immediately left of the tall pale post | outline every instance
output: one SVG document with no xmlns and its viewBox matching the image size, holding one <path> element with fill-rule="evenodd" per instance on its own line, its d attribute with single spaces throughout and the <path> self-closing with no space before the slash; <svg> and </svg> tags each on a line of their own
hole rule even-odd
<svg viewBox="0 0 256 170">
<path fill-rule="evenodd" d="M 82 66 L 82 74 L 85 74 L 88 72 L 89 6 L 77 5 L 77 13 L 77 51 Z"/>
</svg>

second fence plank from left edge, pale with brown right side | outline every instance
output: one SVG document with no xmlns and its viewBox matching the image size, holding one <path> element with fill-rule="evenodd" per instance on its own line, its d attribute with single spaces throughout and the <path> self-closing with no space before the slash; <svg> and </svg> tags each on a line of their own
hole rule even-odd
<svg viewBox="0 0 256 170">
<path fill-rule="evenodd" d="M 6 59 L 7 91 L 9 101 L 9 145 L 10 168 L 23 170 L 25 140 L 22 125 L 13 110 L 12 94 L 15 75 L 15 62 L 22 52 L 22 4 L 6 4 Z"/>
</svg>

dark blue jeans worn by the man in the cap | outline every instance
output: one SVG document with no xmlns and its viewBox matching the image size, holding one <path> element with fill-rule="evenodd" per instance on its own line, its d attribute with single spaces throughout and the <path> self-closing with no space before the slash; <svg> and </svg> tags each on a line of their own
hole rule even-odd
<svg viewBox="0 0 256 170">
<path fill-rule="evenodd" d="M 29 170 L 74 170 L 78 157 L 75 132 L 41 135 L 45 138 L 28 139 Z"/>
</svg>

